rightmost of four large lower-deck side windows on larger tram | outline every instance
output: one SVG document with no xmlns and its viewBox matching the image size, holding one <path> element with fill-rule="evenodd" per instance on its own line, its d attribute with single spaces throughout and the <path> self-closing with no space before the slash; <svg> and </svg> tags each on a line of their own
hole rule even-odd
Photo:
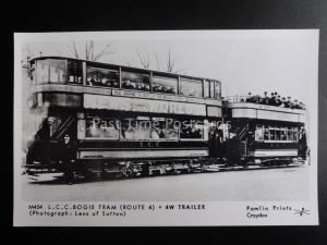
<svg viewBox="0 0 327 245">
<path fill-rule="evenodd" d="M 187 120 L 180 126 L 181 139 L 204 139 L 204 122 Z"/>
</svg>

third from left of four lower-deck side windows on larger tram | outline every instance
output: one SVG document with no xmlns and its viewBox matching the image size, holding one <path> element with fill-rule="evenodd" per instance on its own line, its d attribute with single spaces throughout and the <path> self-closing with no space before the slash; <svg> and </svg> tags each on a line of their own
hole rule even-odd
<svg viewBox="0 0 327 245">
<path fill-rule="evenodd" d="M 152 139 L 178 139 L 178 126 L 174 120 L 153 118 Z"/>
</svg>

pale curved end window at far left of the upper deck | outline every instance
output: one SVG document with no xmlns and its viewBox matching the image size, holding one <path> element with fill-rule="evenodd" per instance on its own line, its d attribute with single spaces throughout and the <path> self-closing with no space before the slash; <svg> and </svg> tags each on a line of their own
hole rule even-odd
<svg viewBox="0 0 327 245">
<path fill-rule="evenodd" d="M 39 60 L 37 61 L 37 83 L 64 83 L 65 61 Z"/>
</svg>

